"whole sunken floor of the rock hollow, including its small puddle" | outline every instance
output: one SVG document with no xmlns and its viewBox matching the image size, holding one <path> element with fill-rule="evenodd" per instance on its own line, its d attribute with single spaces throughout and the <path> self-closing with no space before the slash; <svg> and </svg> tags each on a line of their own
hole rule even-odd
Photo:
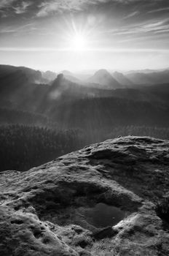
<svg viewBox="0 0 169 256">
<path fill-rule="evenodd" d="M 110 206 L 105 203 L 91 203 L 90 206 L 74 206 L 55 211 L 45 211 L 40 219 L 49 220 L 60 226 L 79 225 L 84 229 L 93 231 L 94 228 L 112 227 L 117 225 L 122 219 L 125 219 L 129 213 L 120 208 Z"/>
</svg>

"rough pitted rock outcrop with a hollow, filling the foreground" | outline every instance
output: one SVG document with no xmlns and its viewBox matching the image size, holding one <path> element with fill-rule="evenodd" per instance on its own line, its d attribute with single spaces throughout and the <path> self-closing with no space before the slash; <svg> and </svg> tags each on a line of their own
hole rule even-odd
<svg viewBox="0 0 169 256">
<path fill-rule="evenodd" d="M 168 140 L 130 136 L 0 173 L 0 255 L 169 255 L 168 165 Z"/>
</svg>

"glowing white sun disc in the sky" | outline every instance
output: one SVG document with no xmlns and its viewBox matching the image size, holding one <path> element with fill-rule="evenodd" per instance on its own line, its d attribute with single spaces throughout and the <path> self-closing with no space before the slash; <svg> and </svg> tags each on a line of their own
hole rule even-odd
<svg viewBox="0 0 169 256">
<path fill-rule="evenodd" d="M 71 48 L 74 51 L 84 51 L 87 49 L 87 39 L 82 34 L 76 34 L 71 39 Z"/>
</svg>

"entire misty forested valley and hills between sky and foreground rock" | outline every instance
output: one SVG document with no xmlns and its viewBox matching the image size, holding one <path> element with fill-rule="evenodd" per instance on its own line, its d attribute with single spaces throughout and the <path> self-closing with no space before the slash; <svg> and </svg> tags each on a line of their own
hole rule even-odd
<svg viewBox="0 0 169 256">
<path fill-rule="evenodd" d="M 28 170 L 118 136 L 168 139 L 169 84 L 141 86 L 114 74 L 115 87 L 105 70 L 95 74 L 98 82 L 103 75 L 103 84 L 72 82 L 63 74 L 47 84 L 39 71 L 0 65 L 0 169 Z M 160 73 L 163 80 L 167 74 Z"/>
</svg>

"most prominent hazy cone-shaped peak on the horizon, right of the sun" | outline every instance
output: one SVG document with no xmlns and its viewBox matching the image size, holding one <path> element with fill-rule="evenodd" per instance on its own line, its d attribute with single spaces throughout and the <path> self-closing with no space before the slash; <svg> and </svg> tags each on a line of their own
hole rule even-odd
<svg viewBox="0 0 169 256">
<path fill-rule="evenodd" d="M 115 80 L 106 69 L 100 69 L 87 80 L 90 83 L 98 83 L 105 89 L 122 88 L 122 85 Z"/>
</svg>

